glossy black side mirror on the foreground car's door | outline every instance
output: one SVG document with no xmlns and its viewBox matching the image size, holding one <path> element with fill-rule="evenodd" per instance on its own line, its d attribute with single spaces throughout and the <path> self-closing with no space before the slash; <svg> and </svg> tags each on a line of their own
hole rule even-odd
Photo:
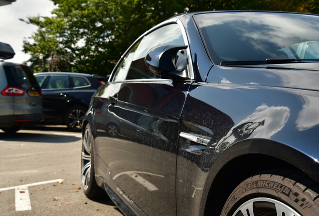
<svg viewBox="0 0 319 216">
<path fill-rule="evenodd" d="M 185 50 L 188 45 L 158 45 L 149 49 L 145 56 L 145 64 L 152 72 L 162 78 L 187 79 L 185 71 L 188 60 Z"/>
</svg>

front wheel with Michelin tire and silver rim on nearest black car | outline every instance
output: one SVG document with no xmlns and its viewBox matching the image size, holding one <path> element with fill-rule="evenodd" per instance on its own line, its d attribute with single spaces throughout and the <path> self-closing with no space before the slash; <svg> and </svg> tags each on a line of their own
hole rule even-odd
<svg viewBox="0 0 319 216">
<path fill-rule="evenodd" d="M 228 197 L 221 216 L 317 216 L 318 188 L 318 183 L 304 173 L 267 171 L 241 182 Z"/>
</svg>

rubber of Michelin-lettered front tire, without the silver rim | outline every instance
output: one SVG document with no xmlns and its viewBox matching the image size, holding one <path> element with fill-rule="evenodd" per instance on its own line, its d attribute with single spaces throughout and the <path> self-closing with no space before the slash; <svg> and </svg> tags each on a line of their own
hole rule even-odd
<svg viewBox="0 0 319 216">
<path fill-rule="evenodd" d="M 279 175 L 255 175 L 235 188 L 227 199 L 221 216 L 232 215 L 241 204 L 256 197 L 276 199 L 304 216 L 319 215 L 311 194 L 305 189 L 304 185 Z"/>
</svg>

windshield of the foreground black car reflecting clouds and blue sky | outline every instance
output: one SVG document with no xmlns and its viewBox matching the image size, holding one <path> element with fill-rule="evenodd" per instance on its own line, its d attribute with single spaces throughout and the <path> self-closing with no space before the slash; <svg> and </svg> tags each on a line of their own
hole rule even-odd
<svg viewBox="0 0 319 216">
<path fill-rule="evenodd" d="M 280 12 L 195 15 L 213 62 L 319 59 L 319 16 Z"/>
</svg>

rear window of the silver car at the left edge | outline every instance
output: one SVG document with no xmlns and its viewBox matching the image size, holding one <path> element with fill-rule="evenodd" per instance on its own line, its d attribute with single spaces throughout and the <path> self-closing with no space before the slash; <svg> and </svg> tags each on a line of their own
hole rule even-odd
<svg viewBox="0 0 319 216">
<path fill-rule="evenodd" d="M 30 86 L 39 86 L 32 70 L 24 65 L 4 65 L 8 84 L 28 90 Z"/>
</svg>

